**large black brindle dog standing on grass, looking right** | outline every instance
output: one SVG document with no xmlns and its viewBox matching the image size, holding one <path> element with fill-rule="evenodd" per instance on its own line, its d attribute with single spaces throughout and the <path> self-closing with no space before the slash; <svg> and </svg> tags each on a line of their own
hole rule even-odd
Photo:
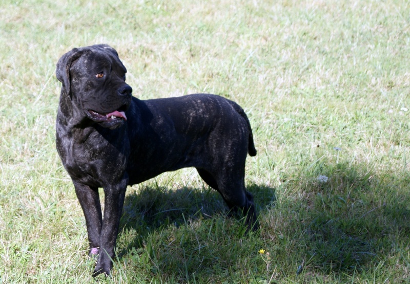
<svg viewBox="0 0 410 284">
<path fill-rule="evenodd" d="M 126 72 L 107 45 L 73 49 L 56 69 L 63 83 L 57 151 L 84 211 L 90 255 L 99 253 L 94 276 L 112 269 L 127 185 L 165 171 L 195 167 L 230 208 L 247 214 L 248 229 L 258 226 L 244 186 L 245 159 L 256 149 L 242 108 L 209 94 L 142 101 L 132 97 Z"/>
</svg>

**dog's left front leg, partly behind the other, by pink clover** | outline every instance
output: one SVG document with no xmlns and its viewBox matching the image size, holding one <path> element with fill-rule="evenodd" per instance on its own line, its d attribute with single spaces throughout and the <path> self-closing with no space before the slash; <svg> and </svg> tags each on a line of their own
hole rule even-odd
<svg viewBox="0 0 410 284">
<path fill-rule="evenodd" d="M 88 242 L 90 244 L 90 256 L 93 248 L 100 246 L 100 232 L 103 225 L 103 216 L 101 215 L 101 204 L 99 202 L 98 188 L 90 187 L 88 185 L 75 182 L 75 193 L 78 201 L 83 208 L 84 216 L 86 218 L 86 226 L 88 232 Z"/>
</svg>

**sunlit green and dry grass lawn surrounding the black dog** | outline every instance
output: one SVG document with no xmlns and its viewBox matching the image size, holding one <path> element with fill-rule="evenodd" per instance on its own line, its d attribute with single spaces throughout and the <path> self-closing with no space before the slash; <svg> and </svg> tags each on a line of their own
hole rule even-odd
<svg viewBox="0 0 410 284">
<path fill-rule="evenodd" d="M 129 188 L 99 282 L 410 282 L 408 2 L 6 0 L 0 14 L 0 283 L 93 281 L 54 70 L 94 43 L 118 51 L 138 98 L 244 107 L 261 224 L 244 235 L 194 170 L 161 174 Z"/>
</svg>

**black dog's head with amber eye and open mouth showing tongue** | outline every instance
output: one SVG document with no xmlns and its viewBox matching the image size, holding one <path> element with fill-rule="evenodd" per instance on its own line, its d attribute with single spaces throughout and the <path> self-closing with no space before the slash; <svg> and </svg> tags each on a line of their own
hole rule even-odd
<svg viewBox="0 0 410 284">
<path fill-rule="evenodd" d="M 126 68 L 108 45 L 75 48 L 57 62 L 57 79 L 81 115 L 111 129 L 121 126 L 131 104 L 132 88 Z M 68 101 L 68 100 L 66 100 Z"/>
</svg>

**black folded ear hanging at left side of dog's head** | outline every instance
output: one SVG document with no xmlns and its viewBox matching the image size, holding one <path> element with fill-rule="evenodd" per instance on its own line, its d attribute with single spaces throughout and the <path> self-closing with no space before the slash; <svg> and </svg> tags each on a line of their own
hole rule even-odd
<svg viewBox="0 0 410 284">
<path fill-rule="evenodd" d="M 60 59 L 58 59 L 57 66 L 55 69 L 55 75 L 61 83 L 63 83 L 63 88 L 66 90 L 70 99 L 73 99 L 73 95 L 71 94 L 71 86 L 70 86 L 70 68 L 71 64 L 77 60 L 82 54 L 84 53 L 83 49 L 74 48 L 71 51 L 67 52 Z"/>
</svg>

